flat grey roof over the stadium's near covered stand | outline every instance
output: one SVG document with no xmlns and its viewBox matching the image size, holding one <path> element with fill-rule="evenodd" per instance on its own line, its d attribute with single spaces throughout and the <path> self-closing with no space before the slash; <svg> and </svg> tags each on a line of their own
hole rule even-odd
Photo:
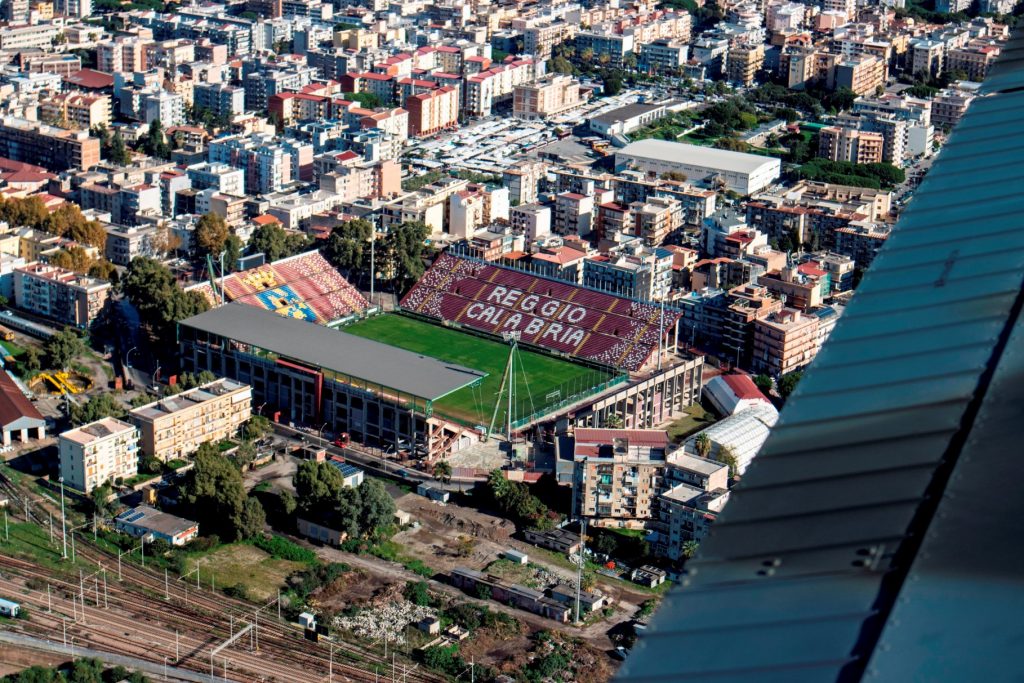
<svg viewBox="0 0 1024 683">
<path fill-rule="evenodd" d="M 241 303 L 194 315 L 181 325 L 430 400 L 484 376 L 470 368 Z"/>
</svg>

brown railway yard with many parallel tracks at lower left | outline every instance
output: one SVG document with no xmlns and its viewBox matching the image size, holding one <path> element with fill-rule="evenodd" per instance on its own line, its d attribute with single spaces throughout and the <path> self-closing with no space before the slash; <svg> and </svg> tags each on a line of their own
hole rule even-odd
<svg viewBox="0 0 1024 683">
<path fill-rule="evenodd" d="M 28 511 L 41 525 L 53 512 L 45 503 L 26 505 L 24 493 L 9 481 L 0 485 L 0 496 L 12 513 Z M 383 646 L 377 651 L 338 638 L 311 642 L 279 616 L 276 598 L 259 607 L 214 593 L 198 577 L 172 579 L 119 563 L 116 554 L 83 541 L 75 563 L 69 560 L 62 572 L 0 555 L 0 593 L 30 614 L 8 622 L 5 630 L 167 667 L 170 680 L 444 680 L 393 652 L 385 655 Z M 53 550 L 59 557 L 60 549 Z M 175 671 L 201 678 L 174 679 Z"/>
</svg>

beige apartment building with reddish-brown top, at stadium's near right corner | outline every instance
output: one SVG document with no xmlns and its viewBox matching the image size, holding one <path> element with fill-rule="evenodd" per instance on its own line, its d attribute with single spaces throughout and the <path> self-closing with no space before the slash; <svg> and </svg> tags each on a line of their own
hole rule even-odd
<svg viewBox="0 0 1024 683">
<path fill-rule="evenodd" d="M 596 526 L 644 528 L 654 517 L 669 435 L 656 429 L 574 433 L 573 509 Z"/>
</svg>

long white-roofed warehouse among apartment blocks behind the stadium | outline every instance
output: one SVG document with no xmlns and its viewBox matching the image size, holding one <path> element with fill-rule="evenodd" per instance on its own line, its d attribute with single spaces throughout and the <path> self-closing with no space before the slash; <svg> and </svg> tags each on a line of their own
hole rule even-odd
<svg viewBox="0 0 1024 683">
<path fill-rule="evenodd" d="M 656 176 L 683 173 L 690 182 L 714 184 L 721 179 L 732 191 L 753 195 L 778 179 L 782 162 L 742 152 L 649 139 L 615 152 L 615 170 L 630 167 Z"/>
</svg>

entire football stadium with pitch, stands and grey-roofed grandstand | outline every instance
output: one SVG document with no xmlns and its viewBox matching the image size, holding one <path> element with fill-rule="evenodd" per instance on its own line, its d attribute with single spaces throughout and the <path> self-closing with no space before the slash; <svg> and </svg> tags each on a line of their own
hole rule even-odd
<svg viewBox="0 0 1024 683">
<path fill-rule="evenodd" d="M 200 289 L 215 307 L 179 325 L 183 370 L 251 384 L 279 420 L 427 460 L 553 421 L 650 426 L 699 392 L 678 312 L 469 258 L 438 257 L 391 313 L 369 314 L 316 252 Z"/>
</svg>

